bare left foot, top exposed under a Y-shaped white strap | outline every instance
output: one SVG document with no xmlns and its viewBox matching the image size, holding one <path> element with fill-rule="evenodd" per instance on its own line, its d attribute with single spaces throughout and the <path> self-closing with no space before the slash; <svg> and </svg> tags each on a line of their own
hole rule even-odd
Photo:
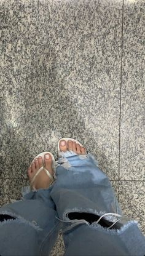
<svg viewBox="0 0 145 256">
<path fill-rule="evenodd" d="M 42 166 L 43 160 L 42 157 L 39 156 L 39 158 L 36 158 L 31 166 L 28 168 L 28 176 L 30 182 Z M 45 154 L 44 156 L 44 166 L 53 176 L 52 156 L 50 156 L 49 153 Z M 35 186 L 36 190 L 39 190 L 40 188 L 49 188 L 51 182 L 52 180 L 46 174 L 45 170 L 41 170 L 41 172 L 36 176 L 33 185 Z"/>
</svg>

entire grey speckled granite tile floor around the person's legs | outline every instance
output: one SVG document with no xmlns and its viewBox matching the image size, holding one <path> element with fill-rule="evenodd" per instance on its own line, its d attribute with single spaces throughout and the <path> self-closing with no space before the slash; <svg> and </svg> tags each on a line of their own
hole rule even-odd
<svg viewBox="0 0 145 256">
<path fill-rule="evenodd" d="M 144 0 L 1 0 L 0 204 L 77 138 L 145 231 Z M 59 236 L 52 255 L 63 255 Z"/>
</svg>

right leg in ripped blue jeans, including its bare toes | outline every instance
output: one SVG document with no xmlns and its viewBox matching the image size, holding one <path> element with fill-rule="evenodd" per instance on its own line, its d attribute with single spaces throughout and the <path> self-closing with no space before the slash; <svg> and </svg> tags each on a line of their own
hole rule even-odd
<svg viewBox="0 0 145 256">
<path fill-rule="evenodd" d="M 72 142 L 60 150 L 57 183 L 50 195 L 63 222 L 65 255 L 143 256 L 144 236 L 137 222 L 120 217 L 111 183 L 93 156 Z"/>
</svg>

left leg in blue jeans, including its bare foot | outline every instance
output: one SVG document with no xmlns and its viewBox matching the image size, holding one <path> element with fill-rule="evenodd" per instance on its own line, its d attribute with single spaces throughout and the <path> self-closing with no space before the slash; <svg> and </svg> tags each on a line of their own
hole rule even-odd
<svg viewBox="0 0 145 256">
<path fill-rule="evenodd" d="M 29 168 L 30 182 L 40 167 L 42 158 Z M 53 174 L 51 156 L 45 159 L 45 168 Z M 50 198 L 53 188 L 49 187 L 50 182 L 42 170 L 33 184 L 36 191 L 29 191 L 22 200 L 0 208 L 0 255 L 49 255 L 61 228 Z"/>
</svg>

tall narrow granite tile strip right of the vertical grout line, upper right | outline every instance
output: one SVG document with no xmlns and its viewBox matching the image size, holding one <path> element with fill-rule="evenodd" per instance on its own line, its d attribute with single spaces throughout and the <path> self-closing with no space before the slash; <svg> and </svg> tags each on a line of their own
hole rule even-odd
<svg viewBox="0 0 145 256">
<path fill-rule="evenodd" d="M 120 179 L 145 180 L 144 1 L 124 1 Z"/>
</svg>

